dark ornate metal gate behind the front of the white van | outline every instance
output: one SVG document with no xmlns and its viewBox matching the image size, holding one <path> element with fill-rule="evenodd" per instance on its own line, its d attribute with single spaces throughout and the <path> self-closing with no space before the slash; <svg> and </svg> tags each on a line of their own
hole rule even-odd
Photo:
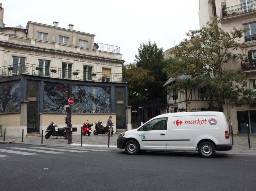
<svg viewBox="0 0 256 191">
<path fill-rule="evenodd" d="M 171 113 L 171 108 L 172 107 L 169 106 L 165 100 L 159 98 L 152 100 L 147 104 L 141 104 L 138 108 L 132 108 L 132 129 L 138 128 L 141 125 L 141 122 L 145 123 L 149 118 L 165 113 Z"/>
</svg>

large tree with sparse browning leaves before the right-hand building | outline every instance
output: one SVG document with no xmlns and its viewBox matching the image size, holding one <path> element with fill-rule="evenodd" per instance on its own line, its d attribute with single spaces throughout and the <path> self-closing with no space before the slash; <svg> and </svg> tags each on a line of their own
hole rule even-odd
<svg viewBox="0 0 256 191">
<path fill-rule="evenodd" d="M 236 41 L 246 30 L 233 28 L 228 33 L 218 26 L 222 22 L 224 20 L 214 17 L 206 27 L 189 30 L 186 33 L 189 40 L 186 38 L 175 47 L 171 52 L 175 59 L 164 71 L 169 77 L 191 76 L 191 79 L 171 85 L 170 89 L 178 88 L 184 93 L 187 86 L 209 87 L 209 92 L 200 97 L 210 99 L 210 108 L 221 99 L 229 99 L 240 107 L 254 101 L 253 91 L 246 88 L 246 76 L 240 69 L 226 70 L 224 65 L 229 60 L 236 63 L 246 57 L 245 54 L 231 53 L 246 46 Z"/>
</svg>

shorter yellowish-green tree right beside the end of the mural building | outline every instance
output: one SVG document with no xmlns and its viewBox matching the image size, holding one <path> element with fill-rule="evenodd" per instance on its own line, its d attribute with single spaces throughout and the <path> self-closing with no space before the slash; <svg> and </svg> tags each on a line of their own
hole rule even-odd
<svg viewBox="0 0 256 191">
<path fill-rule="evenodd" d="M 145 86 L 154 81 L 154 77 L 150 76 L 149 70 L 144 70 L 141 67 L 136 67 L 135 63 L 123 65 L 123 74 L 126 74 L 128 105 L 132 105 L 133 99 L 137 94 L 145 94 Z"/>
</svg>

